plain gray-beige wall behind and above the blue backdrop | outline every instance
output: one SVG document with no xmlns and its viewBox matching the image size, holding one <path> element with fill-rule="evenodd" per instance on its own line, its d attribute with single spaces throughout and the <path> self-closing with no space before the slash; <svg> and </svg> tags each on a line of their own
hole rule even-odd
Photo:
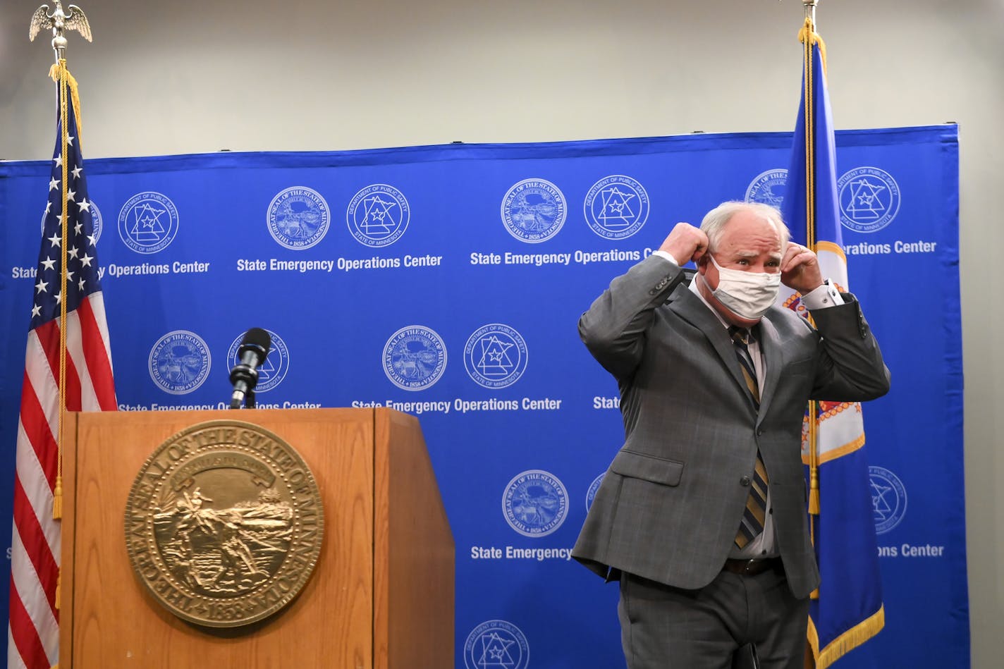
<svg viewBox="0 0 1004 669">
<path fill-rule="evenodd" d="M 50 156 L 39 2 L 0 6 L 0 158 Z M 91 159 L 790 131 L 799 94 L 798 0 L 79 2 Z M 837 128 L 960 124 L 973 666 L 999 666 L 1004 0 L 822 0 L 817 18 Z"/>
</svg>

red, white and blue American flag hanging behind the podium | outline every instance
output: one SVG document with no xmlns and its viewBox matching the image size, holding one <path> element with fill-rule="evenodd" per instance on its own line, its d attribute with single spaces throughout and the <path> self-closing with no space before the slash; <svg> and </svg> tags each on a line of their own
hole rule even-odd
<svg viewBox="0 0 1004 669">
<path fill-rule="evenodd" d="M 11 540 L 8 669 L 49 669 L 59 660 L 59 521 L 52 517 L 59 451 L 59 395 L 67 411 L 115 409 L 111 352 L 90 200 L 70 95 L 62 155 L 57 120 L 48 204 L 34 284 L 17 426 L 14 531 Z M 63 164 L 66 183 L 63 183 Z M 66 292 L 62 294 L 62 215 L 66 190 Z M 66 301 L 66 375 L 59 388 L 60 302 Z"/>
</svg>

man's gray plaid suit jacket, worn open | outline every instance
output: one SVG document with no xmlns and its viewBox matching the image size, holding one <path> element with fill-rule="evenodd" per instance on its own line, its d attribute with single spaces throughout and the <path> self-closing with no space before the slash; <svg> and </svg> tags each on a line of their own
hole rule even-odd
<svg viewBox="0 0 1004 669">
<path fill-rule="evenodd" d="M 772 307 L 760 321 L 767 369 L 756 411 L 727 330 L 682 281 L 672 263 L 647 258 L 579 319 L 585 346 L 617 380 L 625 441 L 572 556 L 601 576 L 612 568 L 708 585 L 732 548 L 759 449 L 788 585 L 807 597 L 819 572 L 801 461 L 806 402 L 881 397 L 889 370 L 852 295 L 813 311 L 818 330 Z"/>
</svg>

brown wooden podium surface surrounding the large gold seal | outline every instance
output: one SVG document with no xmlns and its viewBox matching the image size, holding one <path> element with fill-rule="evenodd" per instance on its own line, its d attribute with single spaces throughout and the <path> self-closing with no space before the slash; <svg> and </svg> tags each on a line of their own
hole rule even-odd
<svg viewBox="0 0 1004 669">
<path fill-rule="evenodd" d="M 445 669 L 454 660 L 454 543 L 418 420 L 390 409 L 67 414 L 60 669 Z M 274 616 L 191 625 L 134 574 L 123 513 L 172 435 L 241 420 L 310 467 L 324 505 L 313 576 Z"/>
</svg>

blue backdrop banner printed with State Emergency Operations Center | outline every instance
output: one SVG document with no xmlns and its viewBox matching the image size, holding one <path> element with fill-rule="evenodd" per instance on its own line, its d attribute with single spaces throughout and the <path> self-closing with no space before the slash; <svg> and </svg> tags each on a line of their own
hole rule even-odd
<svg viewBox="0 0 1004 669">
<path fill-rule="evenodd" d="M 837 666 L 968 667 L 957 128 L 836 142 L 850 285 L 893 372 L 864 408 L 887 624 Z M 623 437 L 576 322 L 677 221 L 779 205 L 790 149 L 785 133 L 88 161 L 118 408 L 226 408 L 242 336 L 267 329 L 259 406 L 421 419 L 457 543 L 457 667 L 623 666 L 615 586 L 569 559 Z M 0 163 L 8 526 L 48 175 Z"/>
</svg>

